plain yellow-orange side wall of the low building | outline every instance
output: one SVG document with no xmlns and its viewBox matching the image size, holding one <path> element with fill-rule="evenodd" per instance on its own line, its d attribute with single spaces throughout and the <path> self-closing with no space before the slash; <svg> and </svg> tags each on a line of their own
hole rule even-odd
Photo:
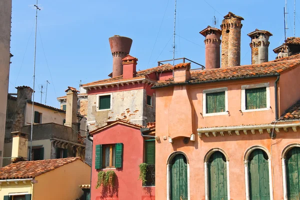
<svg viewBox="0 0 300 200">
<path fill-rule="evenodd" d="M 32 200 L 77 199 L 81 184 L 90 184 L 90 166 L 81 160 L 62 165 L 35 177 Z M 0 198 L 1 199 L 1 198 Z"/>
</svg>

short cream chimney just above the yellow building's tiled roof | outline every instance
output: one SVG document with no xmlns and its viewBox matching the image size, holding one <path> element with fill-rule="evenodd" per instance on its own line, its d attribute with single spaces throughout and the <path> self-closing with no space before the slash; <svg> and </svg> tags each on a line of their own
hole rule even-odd
<svg viewBox="0 0 300 200">
<path fill-rule="evenodd" d="M 28 133 L 21 131 L 11 132 L 12 134 L 12 148 L 11 148 L 11 162 L 27 160 L 28 150 Z"/>
</svg>

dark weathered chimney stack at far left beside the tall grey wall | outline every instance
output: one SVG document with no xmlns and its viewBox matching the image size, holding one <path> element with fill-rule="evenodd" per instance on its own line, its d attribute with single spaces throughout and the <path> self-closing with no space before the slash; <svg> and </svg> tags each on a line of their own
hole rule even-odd
<svg viewBox="0 0 300 200">
<path fill-rule="evenodd" d="M 18 86 L 16 96 L 16 109 L 15 109 L 15 119 L 13 121 L 11 131 L 21 131 L 23 125 L 25 124 L 25 110 L 27 105 L 27 100 L 31 101 L 31 96 L 33 89 L 29 86 Z"/>
</svg>

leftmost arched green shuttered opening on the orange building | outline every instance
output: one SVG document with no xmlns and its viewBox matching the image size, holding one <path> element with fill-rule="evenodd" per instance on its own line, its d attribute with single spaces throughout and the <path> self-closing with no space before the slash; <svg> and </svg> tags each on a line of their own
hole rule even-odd
<svg viewBox="0 0 300 200">
<path fill-rule="evenodd" d="M 170 166 L 171 200 L 187 200 L 187 163 L 183 154 L 173 157 Z"/>
</svg>

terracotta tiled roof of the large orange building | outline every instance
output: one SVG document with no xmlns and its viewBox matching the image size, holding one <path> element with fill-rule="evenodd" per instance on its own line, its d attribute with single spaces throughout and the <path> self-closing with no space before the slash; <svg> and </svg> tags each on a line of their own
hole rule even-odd
<svg viewBox="0 0 300 200">
<path fill-rule="evenodd" d="M 231 66 L 208 70 L 190 71 L 190 80 L 186 84 L 195 84 L 227 79 L 239 79 L 251 76 L 276 75 L 300 64 L 300 54 L 253 65 Z M 160 80 L 153 87 L 163 87 L 174 83 L 174 79 Z"/>
</svg>

